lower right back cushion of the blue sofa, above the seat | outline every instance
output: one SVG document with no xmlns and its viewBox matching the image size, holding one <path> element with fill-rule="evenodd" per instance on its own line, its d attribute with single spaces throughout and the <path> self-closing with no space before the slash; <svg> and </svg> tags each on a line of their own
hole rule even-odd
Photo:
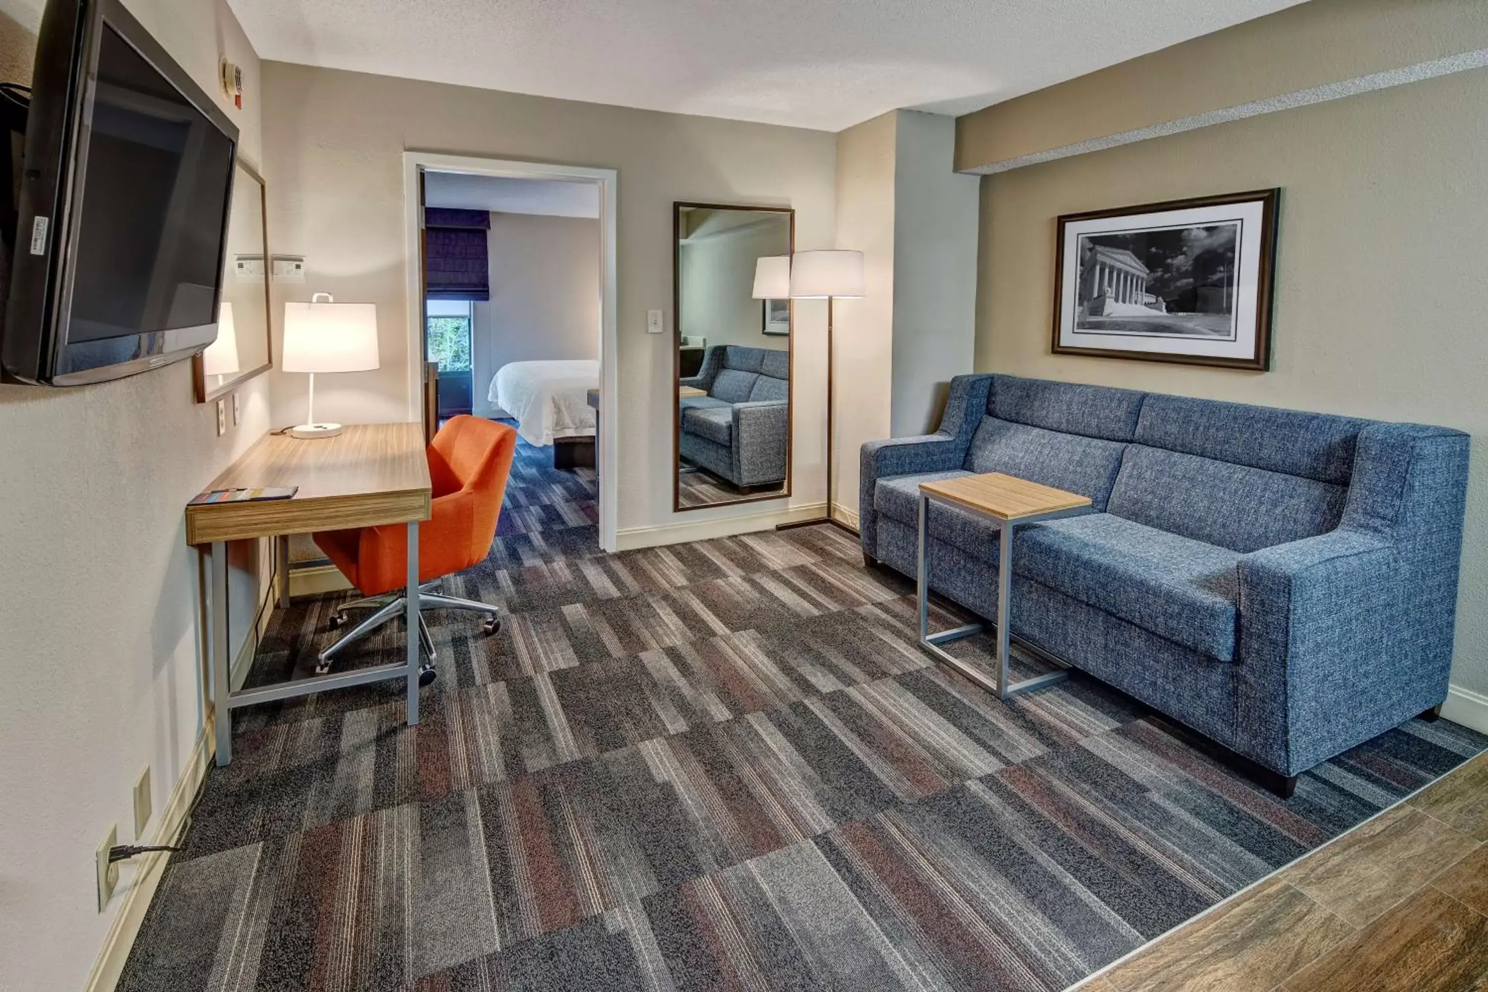
<svg viewBox="0 0 1488 992">
<path fill-rule="evenodd" d="M 1250 553 L 1332 531 L 1347 497 L 1348 488 L 1332 482 L 1128 445 L 1106 509 Z"/>
</svg>

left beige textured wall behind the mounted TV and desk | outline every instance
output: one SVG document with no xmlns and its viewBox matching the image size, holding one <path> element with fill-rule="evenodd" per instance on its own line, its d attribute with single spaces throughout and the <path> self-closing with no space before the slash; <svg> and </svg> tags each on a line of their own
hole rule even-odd
<svg viewBox="0 0 1488 992">
<path fill-rule="evenodd" d="M 226 3 L 125 0 L 211 94 L 243 65 L 243 153 L 259 155 L 257 57 Z M 0 3 L 0 65 L 16 77 L 40 4 Z M 220 98 L 220 97 L 219 97 Z M 272 177 L 269 190 L 272 196 Z M 134 837 L 131 788 L 152 769 L 155 819 L 202 727 L 196 553 L 183 507 L 268 425 L 263 378 L 244 422 L 216 434 L 190 363 L 67 390 L 0 387 L 0 986 L 77 989 L 122 901 L 95 904 L 94 849 Z M 231 419 L 231 418 L 229 418 Z M 251 555 L 248 556 L 251 558 Z M 234 583 L 254 601 L 251 561 Z M 248 622 L 234 616 L 237 641 Z M 122 869 L 128 885 L 132 867 Z"/>
</svg>

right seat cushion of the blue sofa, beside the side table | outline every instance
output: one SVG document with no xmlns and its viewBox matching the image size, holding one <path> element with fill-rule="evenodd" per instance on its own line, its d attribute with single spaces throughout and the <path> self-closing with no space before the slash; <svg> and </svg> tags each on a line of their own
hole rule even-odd
<svg viewBox="0 0 1488 992">
<path fill-rule="evenodd" d="M 1240 553 L 1112 513 L 1019 528 L 1013 571 L 1222 662 L 1235 659 Z"/>
</svg>

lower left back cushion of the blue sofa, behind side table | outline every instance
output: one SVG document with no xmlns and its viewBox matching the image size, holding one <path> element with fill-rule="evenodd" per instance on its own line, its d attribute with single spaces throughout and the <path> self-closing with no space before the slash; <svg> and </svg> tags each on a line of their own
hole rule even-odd
<svg viewBox="0 0 1488 992">
<path fill-rule="evenodd" d="M 967 471 L 1004 471 L 1046 486 L 1091 497 L 1106 509 L 1126 445 L 1100 437 L 1009 424 L 984 416 L 966 454 Z"/>
</svg>

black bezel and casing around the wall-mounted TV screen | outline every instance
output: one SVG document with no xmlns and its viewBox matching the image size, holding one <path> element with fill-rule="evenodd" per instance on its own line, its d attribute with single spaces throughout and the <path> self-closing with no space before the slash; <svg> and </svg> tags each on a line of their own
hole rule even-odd
<svg viewBox="0 0 1488 992">
<path fill-rule="evenodd" d="M 237 125 L 150 37 L 121 0 L 51 0 L 37 36 L 10 299 L 6 302 L 4 336 L 0 339 L 0 366 L 9 381 L 85 385 L 121 379 L 189 358 L 217 338 L 217 324 L 213 321 L 103 341 L 67 341 L 74 248 L 86 210 L 82 195 L 104 25 L 113 28 L 232 143 L 222 236 L 217 242 L 214 314 L 222 300 L 222 263 L 237 175 Z M 48 231 L 42 251 L 33 254 L 37 217 L 48 219 Z"/>
</svg>

